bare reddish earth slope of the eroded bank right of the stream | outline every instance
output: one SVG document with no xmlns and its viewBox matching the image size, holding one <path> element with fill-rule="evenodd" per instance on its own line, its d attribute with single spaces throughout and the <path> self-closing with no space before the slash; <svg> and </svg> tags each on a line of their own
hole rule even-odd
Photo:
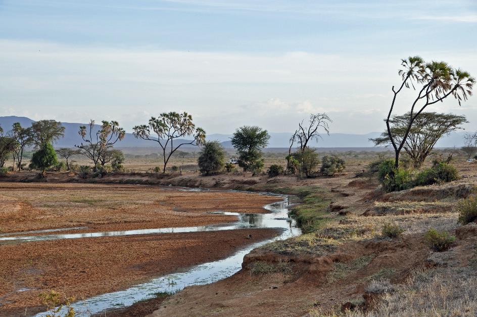
<svg viewBox="0 0 477 317">
<path fill-rule="evenodd" d="M 149 316 L 304 316 L 314 307 L 327 311 L 360 297 L 368 277 L 381 268 L 393 267 L 393 282 L 402 283 L 409 270 L 420 267 L 429 253 L 416 236 L 407 236 L 400 243 L 349 243 L 336 252 L 314 258 L 289 258 L 255 250 L 245 257 L 244 269 L 239 273 L 216 283 L 186 287 L 167 298 Z M 363 255 L 372 257 L 368 265 L 328 283 L 326 274 L 333 263 L 349 263 Z M 249 270 L 254 261 L 277 263 L 291 259 L 293 274 L 254 276 Z"/>
</svg>

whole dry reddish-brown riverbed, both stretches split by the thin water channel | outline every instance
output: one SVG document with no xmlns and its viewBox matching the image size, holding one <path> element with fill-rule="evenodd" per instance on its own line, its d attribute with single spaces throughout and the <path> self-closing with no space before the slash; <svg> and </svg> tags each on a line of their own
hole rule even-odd
<svg viewBox="0 0 477 317">
<path fill-rule="evenodd" d="M 261 213 L 279 197 L 134 185 L 0 183 L 0 234 L 122 231 L 236 221 L 210 211 Z M 87 298 L 224 258 L 274 229 L 0 242 L 0 315 L 41 311 L 38 294 Z M 47 235 L 50 233 L 35 233 Z M 27 233 L 18 234 L 28 235 Z M 30 234 L 31 235 L 31 234 Z M 247 239 L 251 235 L 253 239 Z M 15 234 L 17 236 L 17 234 Z"/>
</svg>

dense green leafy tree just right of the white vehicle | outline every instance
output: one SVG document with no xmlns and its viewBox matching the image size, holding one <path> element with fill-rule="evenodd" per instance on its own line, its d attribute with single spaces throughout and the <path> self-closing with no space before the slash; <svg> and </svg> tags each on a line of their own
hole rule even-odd
<svg viewBox="0 0 477 317">
<path fill-rule="evenodd" d="M 239 154 L 239 166 L 245 171 L 263 167 L 262 149 L 268 145 L 270 135 L 258 126 L 244 125 L 235 130 L 231 138 Z"/>
</svg>

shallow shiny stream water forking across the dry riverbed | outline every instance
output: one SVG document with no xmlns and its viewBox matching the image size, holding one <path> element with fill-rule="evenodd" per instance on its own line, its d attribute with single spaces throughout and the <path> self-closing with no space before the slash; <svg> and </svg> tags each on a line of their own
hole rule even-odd
<svg viewBox="0 0 477 317">
<path fill-rule="evenodd" d="M 268 194 L 270 195 L 270 194 Z M 208 283 L 217 282 L 233 274 L 237 273 L 242 268 L 242 261 L 247 253 L 250 253 L 254 248 L 257 248 L 263 244 L 272 242 L 274 240 L 283 240 L 293 236 L 297 236 L 301 233 L 301 230 L 296 227 L 295 220 L 288 216 L 288 205 L 292 204 L 291 200 L 295 199 L 292 196 L 281 196 L 282 202 L 273 203 L 265 206 L 270 213 L 265 214 L 239 214 L 234 212 L 223 212 L 227 215 L 236 215 L 239 217 L 239 221 L 227 225 L 206 225 L 203 227 L 184 227 L 184 228 L 163 228 L 163 229 L 148 229 L 148 230 L 131 230 L 123 232 L 109 232 L 109 233 L 94 233 L 99 234 L 97 237 L 102 236 L 121 236 L 121 235 L 133 235 L 133 234 L 148 234 L 148 233 L 169 233 L 169 232 L 198 232 L 198 231 L 214 231 L 214 230 L 230 230 L 230 229 L 243 229 L 243 228 L 278 228 L 281 229 L 279 236 L 261 241 L 249 245 L 239 251 L 236 251 L 229 257 L 221 260 L 208 262 L 200 265 L 193 266 L 185 271 L 179 273 L 169 274 L 160 278 L 153 279 L 147 283 L 139 284 L 130 287 L 123 291 L 112 292 L 102 294 L 88 298 L 84 301 L 73 304 L 74 309 L 78 312 L 78 316 L 86 316 L 88 313 L 105 315 L 104 311 L 108 308 L 130 306 L 134 302 L 145 298 L 153 298 L 153 293 L 157 292 L 171 292 L 181 290 L 189 285 L 203 285 Z M 36 241 L 31 239 L 68 239 L 91 237 L 94 234 L 75 234 L 75 235 L 50 235 L 37 237 L 20 237 L 28 238 L 28 241 Z M 82 236 L 86 235 L 86 236 Z M 62 236 L 62 238 L 58 238 Z M 87 312 L 86 312 L 87 311 Z M 103 313 L 102 313 L 103 312 Z M 46 312 L 39 313 L 36 316 L 45 316 Z"/>
</svg>

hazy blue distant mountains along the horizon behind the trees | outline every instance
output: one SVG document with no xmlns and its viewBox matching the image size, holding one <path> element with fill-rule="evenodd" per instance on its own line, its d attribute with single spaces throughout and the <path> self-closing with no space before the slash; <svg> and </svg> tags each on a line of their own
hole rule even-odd
<svg viewBox="0 0 477 317">
<path fill-rule="evenodd" d="M 0 117 L 0 126 L 4 130 L 8 131 L 13 123 L 20 122 L 23 127 L 28 127 L 34 120 L 26 117 L 6 116 Z M 65 127 L 65 137 L 60 139 L 56 143 L 55 147 L 73 147 L 75 144 L 81 144 L 81 137 L 78 134 L 79 126 L 85 125 L 85 123 L 68 123 L 62 122 Z M 96 125 L 96 129 L 99 130 L 100 126 Z M 96 130 L 96 131 L 97 131 Z M 96 133 L 96 131 L 94 131 Z M 465 131 L 453 132 L 446 137 L 443 137 L 437 143 L 437 147 L 461 147 L 463 146 L 463 135 Z M 292 133 L 290 132 L 270 132 L 270 144 L 269 148 L 288 148 L 289 140 Z M 310 146 L 317 148 L 372 148 L 373 144 L 369 141 L 370 138 L 375 138 L 379 135 L 379 132 L 370 132 L 367 134 L 347 134 L 347 133 L 330 133 L 329 135 L 323 134 L 322 139 L 318 142 L 311 142 Z M 219 141 L 225 148 L 232 148 L 230 143 L 231 134 L 210 134 L 207 135 L 207 140 Z M 176 140 L 175 142 L 181 142 L 184 140 Z M 129 148 L 129 147 L 153 147 L 155 144 L 150 141 L 140 140 L 134 138 L 132 133 L 126 133 L 125 138 L 118 142 L 116 147 Z M 192 147 L 192 146 L 185 146 Z"/>
</svg>

